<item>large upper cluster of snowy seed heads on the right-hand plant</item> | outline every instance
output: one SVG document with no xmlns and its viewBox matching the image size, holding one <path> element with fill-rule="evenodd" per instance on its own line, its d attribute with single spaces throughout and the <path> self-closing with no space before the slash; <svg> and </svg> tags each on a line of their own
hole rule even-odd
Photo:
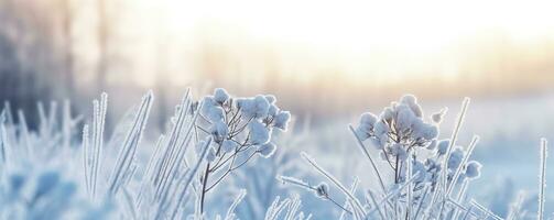
<svg viewBox="0 0 554 220">
<path fill-rule="evenodd" d="M 394 183 L 405 182 L 405 167 L 409 155 L 423 148 L 434 150 L 437 145 L 438 123 L 443 110 L 424 121 L 424 114 L 417 99 L 412 95 L 392 102 L 377 117 L 371 112 L 361 114 L 356 134 L 361 141 L 368 140 L 373 147 L 381 151 L 380 157 L 387 161 L 394 170 Z M 438 154 L 442 155 L 442 154 Z M 421 168 L 415 164 L 414 168 Z M 433 162 L 430 162 L 433 163 Z M 433 167 L 436 168 L 436 167 Z"/>
</svg>

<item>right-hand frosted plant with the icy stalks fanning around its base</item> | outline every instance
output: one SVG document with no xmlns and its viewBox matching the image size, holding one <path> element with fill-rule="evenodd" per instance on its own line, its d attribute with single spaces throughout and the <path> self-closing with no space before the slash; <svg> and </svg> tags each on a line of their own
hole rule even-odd
<svg viewBox="0 0 554 220">
<path fill-rule="evenodd" d="M 455 132 L 448 140 L 438 140 L 438 125 L 446 109 L 426 121 L 417 99 L 411 95 L 392 102 L 379 117 L 370 112 L 361 114 L 359 124 L 350 127 L 350 131 L 380 186 L 380 190 L 365 191 L 365 199 L 357 197 L 356 183 L 347 188 L 306 153 L 302 154 L 304 161 L 338 188 L 346 197 L 345 205 L 329 196 L 333 189 L 326 184 L 311 185 L 285 176 L 280 179 L 314 191 L 317 197 L 343 209 L 350 219 L 456 219 L 466 212 L 471 217 L 481 215 L 467 207 L 477 207 L 475 209 L 490 215 L 479 204 L 466 199 L 468 183 L 479 177 L 481 168 L 478 162 L 469 161 L 479 140 L 477 136 L 467 148 L 455 145 L 467 105 L 468 99 L 464 101 Z M 390 170 L 379 168 L 380 162 L 371 155 L 366 142 L 379 152 Z M 388 174 L 391 174 L 390 179 L 385 178 Z"/>
</svg>

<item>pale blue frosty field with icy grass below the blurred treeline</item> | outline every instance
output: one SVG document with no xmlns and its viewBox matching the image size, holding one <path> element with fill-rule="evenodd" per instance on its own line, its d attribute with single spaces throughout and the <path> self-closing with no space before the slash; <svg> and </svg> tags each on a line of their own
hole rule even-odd
<svg viewBox="0 0 554 220">
<path fill-rule="evenodd" d="M 394 124 L 403 123 L 397 113 L 408 111 L 414 119 L 421 118 L 417 128 L 424 129 L 417 131 L 415 122 L 410 122 L 410 132 L 402 133 L 397 125 L 390 125 L 385 138 L 389 142 L 377 141 L 377 145 L 382 144 L 387 160 L 414 163 L 413 179 L 398 162 L 397 168 L 391 169 L 384 158 L 379 158 L 381 148 L 371 147 L 377 143 L 371 140 L 383 138 L 378 136 L 380 131 L 374 122 L 368 128 L 359 125 L 359 114 L 363 112 L 316 121 L 311 127 L 297 125 L 294 112 L 289 122 L 289 112 L 279 109 L 274 99 L 257 96 L 230 101 L 226 92 L 218 90 L 202 99 L 208 107 L 200 107 L 185 97 L 169 123 L 169 133 L 160 139 L 151 133 L 142 138 L 144 129 L 149 131 L 145 124 L 152 95 L 144 96 L 141 105 L 122 117 L 113 134 L 104 134 L 104 117 L 109 111 L 107 97 L 95 101 L 95 117 L 85 119 L 88 125 L 84 131 L 65 111 L 57 116 L 44 108 L 40 110 L 43 123 L 35 133 L 12 124 L 13 118 L 21 120 L 23 116 L 6 110 L 0 130 L 1 216 L 4 219 L 41 219 L 41 215 L 63 219 L 328 219 L 329 216 L 393 219 L 404 215 L 414 219 L 536 218 L 540 140 L 554 140 L 552 95 L 471 100 L 456 142 L 464 150 L 457 152 L 452 146 L 450 156 L 459 153 L 459 158 L 448 160 L 448 179 L 458 180 L 456 184 L 445 180 L 443 190 L 452 186 L 453 191 L 461 195 L 450 204 L 439 200 L 444 194 L 442 173 L 427 170 L 431 165 L 426 162 L 423 165 L 424 161 L 420 163 L 421 169 L 413 168 L 417 168 L 419 161 L 410 155 L 415 153 L 394 148 L 403 145 L 394 145 L 389 138 L 413 141 L 410 143 L 422 147 L 417 156 L 441 163 L 449 148 L 441 140 L 450 138 L 461 111 L 461 99 L 419 100 L 413 105 L 416 108 L 421 105 L 423 118 L 409 105 L 410 98 L 403 98 L 400 106 L 412 109 L 392 108 L 394 114 L 390 120 Z M 443 107 L 448 108 L 444 120 L 428 119 Z M 368 111 L 379 116 L 383 108 L 368 107 Z M 357 136 L 348 124 L 354 125 Z M 363 131 L 368 136 L 360 138 Z M 479 135 L 479 142 L 468 161 L 464 161 L 474 135 Z M 380 191 L 374 168 L 360 151 L 357 138 L 376 160 L 376 168 L 385 179 L 387 194 Z M 482 167 L 470 170 L 467 162 L 474 160 Z M 458 165 L 450 167 L 450 163 Z M 553 161 L 547 165 L 554 167 Z M 554 172 L 550 170 L 544 175 L 547 183 L 554 179 Z M 421 172 L 427 176 L 415 178 Z M 357 189 L 351 194 L 340 188 L 350 188 L 352 183 Z M 437 200 L 428 191 L 438 191 Z M 517 202 L 518 195 L 524 195 L 521 202 Z M 546 217 L 554 211 L 553 198 L 554 190 L 546 187 L 543 202 Z M 379 204 L 381 199 L 384 201 Z M 393 209 L 393 204 L 400 208 Z M 511 208 L 514 204 L 518 208 Z"/>
</svg>

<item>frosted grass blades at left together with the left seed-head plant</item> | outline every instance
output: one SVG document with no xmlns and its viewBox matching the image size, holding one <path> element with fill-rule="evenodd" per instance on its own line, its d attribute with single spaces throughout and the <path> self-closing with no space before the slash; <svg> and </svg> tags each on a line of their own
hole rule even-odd
<svg viewBox="0 0 554 220">
<path fill-rule="evenodd" d="M 285 131 L 291 114 L 273 96 L 232 98 L 216 89 L 195 101 L 188 89 L 167 131 L 155 143 L 143 142 L 153 102 L 152 92 L 143 96 L 109 139 L 107 94 L 93 101 L 80 132 L 83 118 L 73 117 L 68 102 L 61 116 L 55 103 L 50 111 L 39 105 L 37 131 L 21 111 L 15 123 L 7 103 L 0 113 L 0 219 L 238 219 L 247 190 L 230 191 L 235 199 L 209 210 L 207 193 L 250 160 L 272 156 L 272 131 Z M 309 218 L 298 198 L 275 198 L 264 208 L 265 219 Z"/>
</svg>

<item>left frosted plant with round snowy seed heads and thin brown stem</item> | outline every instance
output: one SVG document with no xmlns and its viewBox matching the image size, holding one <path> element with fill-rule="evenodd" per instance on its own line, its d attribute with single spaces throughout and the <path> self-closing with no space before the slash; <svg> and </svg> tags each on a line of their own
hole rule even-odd
<svg viewBox="0 0 554 220">
<path fill-rule="evenodd" d="M 291 113 L 280 110 L 275 101 L 274 96 L 262 95 L 232 98 L 221 88 L 215 89 L 213 96 L 203 99 L 199 116 L 204 123 L 198 123 L 196 128 L 214 141 L 207 145 L 208 163 L 199 182 L 200 213 L 205 209 L 206 194 L 225 177 L 256 155 L 270 157 L 275 152 L 276 146 L 271 139 L 272 130 L 285 131 L 291 118 Z M 210 182 L 214 175 L 216 178 Z"/>
</svg>

